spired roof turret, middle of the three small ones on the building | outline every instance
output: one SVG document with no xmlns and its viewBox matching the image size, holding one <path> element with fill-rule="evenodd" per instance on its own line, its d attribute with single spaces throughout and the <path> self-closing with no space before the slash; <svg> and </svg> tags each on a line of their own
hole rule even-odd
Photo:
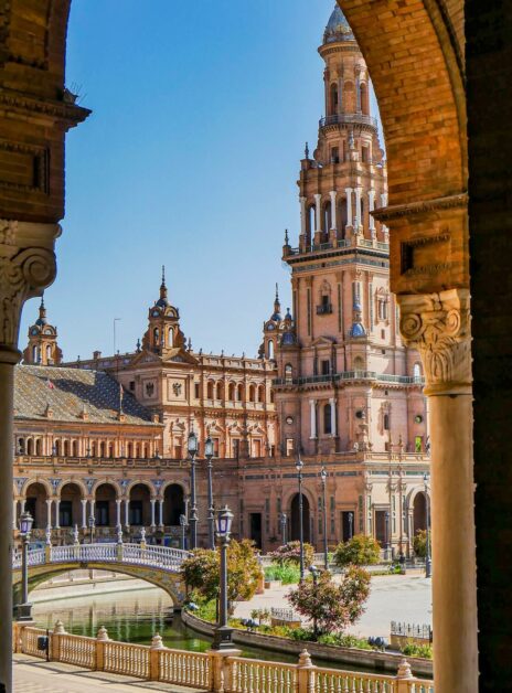
<svg viewBox="0 0 512 693">
<path fill-rule="evenodd" d="M 160 298 L 149 309 L 148 331 L 142 338 L 142 346 L 166 358 L 173 349 L 183 349 L 185 338 L 180 330 L 180 312 L 171 306 L 166 285 L 166 267 L 162 267 Z"/>
</svg>

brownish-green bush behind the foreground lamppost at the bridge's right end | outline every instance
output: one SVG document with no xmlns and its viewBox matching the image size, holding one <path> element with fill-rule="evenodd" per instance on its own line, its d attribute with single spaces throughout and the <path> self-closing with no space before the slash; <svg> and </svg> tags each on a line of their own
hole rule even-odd
<svg viewBox="0 0 512 693">
<path fill-rule="evenodd" d="M 220 590 L 221 558 L 217 551 L 195 548 L 183 561 L 183 579 L 204 599 L 216 599 Z M 253 542 L 232 540 L 227 547 L 227 600 L 230 603 L 254 597 L 263 572 Z"/>
</svg>

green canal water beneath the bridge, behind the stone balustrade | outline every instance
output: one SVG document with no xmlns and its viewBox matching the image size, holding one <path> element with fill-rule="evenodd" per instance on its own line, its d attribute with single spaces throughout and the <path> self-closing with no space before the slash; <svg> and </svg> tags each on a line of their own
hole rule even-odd
<svg viewBox="0 0 512 693">
<path fill-rule="evenodd" d="M 38 628 L 53 628 L 60 619 L 67 632 L 77 636 L 96 637 L 99 627 L 105 626 L 109 638 L 122 642 L 150 644 L 152 636 L 158 632 L 168 648 L 204 652 L 212 643 L 211 639 L 188 628 L 180 616 L 172 612 L 170 597 L 158 588 L 36 601 L 32 614 Z M 298 654 L 239 644 L 235 647 L 242 650 L 243 657 L 250 659 L 291 663 L 298 661 Z M 340 662 L 318 660 L 314 663 L 332 669 L 362 671 Z"/>
</svg>

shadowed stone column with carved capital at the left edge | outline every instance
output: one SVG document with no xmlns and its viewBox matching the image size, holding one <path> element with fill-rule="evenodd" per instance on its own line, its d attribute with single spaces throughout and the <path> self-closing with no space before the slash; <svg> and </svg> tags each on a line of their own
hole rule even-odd
<svg viewBox="0 0 512 693">
<path fill-rule="evenodd" d="M 57 224 L 0 220 L 0 690 L 12 691 L 12 466 L 14 365 L 23 303 L 55 278 Z"/>
</svg>

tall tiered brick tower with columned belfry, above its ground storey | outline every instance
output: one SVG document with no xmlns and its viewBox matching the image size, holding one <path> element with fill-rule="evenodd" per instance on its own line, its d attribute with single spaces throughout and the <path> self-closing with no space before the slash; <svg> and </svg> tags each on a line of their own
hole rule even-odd
<svg viewBox="0 0 512 693">
<path fill-rule="evenodd" d="M 287 233 L 282 248 L 292 318 L 279 326 L 275 350 L 281 454 L 385 451 L 398 441 L 420 452 L 419 358 L 401 341 L 388 230 L 371 214 L 386 204 L 384 152 L 367 67 L 338 7 L 319 53 L 326 116 L 313 157 L 306 147 L 301 161 L 298 247 Z"/>
</svg>

